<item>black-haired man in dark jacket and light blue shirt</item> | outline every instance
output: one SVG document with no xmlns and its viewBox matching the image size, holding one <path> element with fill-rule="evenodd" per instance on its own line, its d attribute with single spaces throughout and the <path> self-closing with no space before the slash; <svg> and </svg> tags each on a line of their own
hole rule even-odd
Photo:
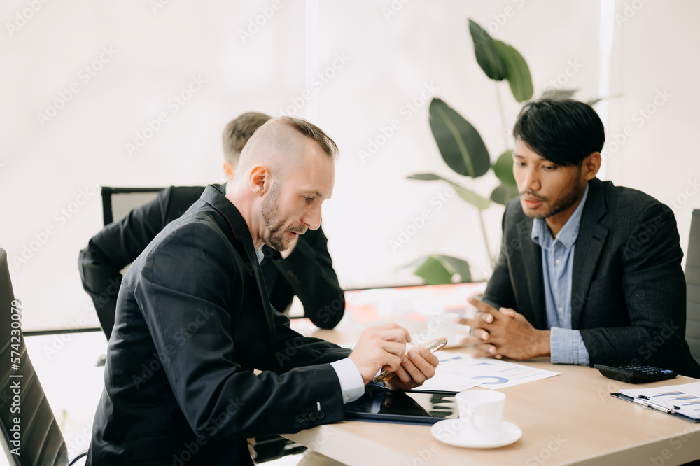
<svg viewBox="0 0 700 466">
<path fill-rule="evenodd" d="M 466 343 L 477 357 L 562 364 L 641 364 L 700 377 L 685 341 L 683 253 L 673 212 L 596 178 L 605 142 L 591 106 L 541 99 L 513 130 L 519 199 L 482 313 Z"/>
</svg>

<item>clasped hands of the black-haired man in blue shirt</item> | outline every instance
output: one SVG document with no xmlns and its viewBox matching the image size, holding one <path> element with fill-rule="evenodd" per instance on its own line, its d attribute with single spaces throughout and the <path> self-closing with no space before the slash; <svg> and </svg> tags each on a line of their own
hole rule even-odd
<svg viewBox="0 0 700 466">
<path fill-rule="evenodd" d="M 496 309 L 475 297 L 468 297 L 467 301 L 481 311 L 473 319 L 458 318 L 458 323 L 472 329 L 472 336 L 462 339 L 461 343 L 477 346 L 475 358 L 506 356 L 526 360 L 549 355 L 548 330 L 535 329 L 513 309 Z"/>
</svg>

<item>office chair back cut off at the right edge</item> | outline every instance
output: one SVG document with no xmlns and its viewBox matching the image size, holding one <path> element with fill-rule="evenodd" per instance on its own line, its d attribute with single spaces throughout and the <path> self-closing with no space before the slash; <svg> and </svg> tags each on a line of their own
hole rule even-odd
<svg viewBox="0 0 700 466">
<path fill-rule="evenodd" d="M 693 211 L 690 223 L 688 255 L 685 258 L 685 283 L 687 285 L 687 316 L 685 340 L 690 353 L 700 362 L 700 209 Z"/>
</svg>

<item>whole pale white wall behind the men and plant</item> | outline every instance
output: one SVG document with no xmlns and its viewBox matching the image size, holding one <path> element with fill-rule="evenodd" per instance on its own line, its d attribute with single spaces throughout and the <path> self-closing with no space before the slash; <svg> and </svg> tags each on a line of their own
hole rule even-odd
<svg viewBox="0 0 700 466">
<path fill-rule="evenodd" d="M 624 13 L 624 3 L 617 3 Z M 643 8 L 615 25 L 611 87 L 622 97 L 610 101 L 609 129 L 635 125 L 633 112 L 650 103 L 655 90 L 667 87 L 673 97 L 611 155 L 608 178 L 668 202 L 698 174 L 692 134 L 699 98 L 692 81 L 700 34 L 692 18 L 700 6 L 636 3 Z M 155 11 L 148 2 L 48 2 L 8 31 L 28 4 L 0 4 L 0 246 L 8 250 L 15 293 L 24 302 L 25 330 L 97 325 L 76 265 L 78 250 L 101 227 L 97 185 L 216 182 L 221 129 L 251 110 L 308 116 L 341 148 L 324 230 L 344 287 L 417 283 L 398 268 L 428 253 L 465 257 L 475 276 L 485 276 L 489 260 L 476 211 L 457 197 L 438 211 L 430 200 L 445 185 L 405 179 L 423 171 L 450 174 L 430 134 L 428 101 L 415 113 L 406 112 L 406 102 L 433 85 L 436 97 L 479 129 L 493 158 L 506 147 L 496 85 L 476 64 L 467 17 L 490 24 L 494 37 L 524 55 L 535 95 L 550 80 L 563 83 L 562 73 L 575 63 L 563 87 L 577 87 L 581 99 L 597 96 L 600 6 L 589 0 L 293 0 L 245 41 L 239 30 L 261 8 L 269 14 L 272 1 L 169 1 Z M 402 8 L 387 16 L 386 8 L 398 4 Z M 307 15 L 316 8 L 318 21 Z M 87 82 L 80 70 L 99 60 L 103 48 L 116 55 L 97 63 L 102 69 Z M 334 61 L 333 76 L 321 86 L 314 70 Z M 174 113 L 169 99 L 186 90 L 192 76 L 206 83 Z M 79 92 L 42 126 L 36 114 L 72 83 Z M 519 105 L 507 84 L 498 89 L 510 127 Z M 304 90 L 309 100 L 298 111 L 290 108 Z M 127 153 L 125 143 L 134 143 L 160 112 L 168 121 L 141 150 Z M 367 139 L 392 120 L 400 128 L 363 162 L 358 150 L 367 150 Z M 489 195 L 495 185 L 486 176 L 473 188 Z M 85 190 L 86 200 L 79 197 Z M 684 248 L 698 199 L 677 211 Z M 71 208 L 71 218 L 61 213 Z M 393 251 L 389 241 L 423 209 L 433 218 Z M 494 206 L 484 216 L 493 253 L 502 211 Z M 53 234 L 45 244 L 36 242 L 47 228 Z M 32 246 L 35 251 L 25 250 Z M 13 261 L 23 251 L 26 262 Z"/>
</svg>

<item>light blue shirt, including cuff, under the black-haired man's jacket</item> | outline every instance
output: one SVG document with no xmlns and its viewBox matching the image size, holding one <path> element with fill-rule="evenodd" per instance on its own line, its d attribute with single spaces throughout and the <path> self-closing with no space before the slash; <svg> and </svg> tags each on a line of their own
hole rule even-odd
<svg viewBox="0 0 700 466">
<path fill-rule="evenodd" d="M 589 365 L 589 355 L 581 332 L 571 329 L 571 278 L 573 251 L 581 225 L 581 213 L 588 197 L 588 186 L 556 239 L 542 218 L 532 224 L 532 241 L 542 248 L 542 275 L 545 282 L 545 305 L 550 352 L 554 364 Z"/>
</svg>

